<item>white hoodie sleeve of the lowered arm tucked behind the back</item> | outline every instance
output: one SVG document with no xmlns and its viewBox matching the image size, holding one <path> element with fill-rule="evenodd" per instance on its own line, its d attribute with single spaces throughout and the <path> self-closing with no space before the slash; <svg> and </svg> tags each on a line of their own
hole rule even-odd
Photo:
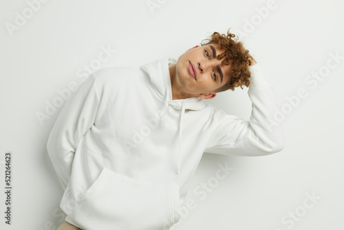
<svg viewBox="0 0 344 230">
<path fill-rule="evenodd" d="M 78 143 L 94 124 L 100 97 L 90 75 L 63 107 L 47 141 L 47 151 L 63 186 L 67 187 Z"/>
</svg>

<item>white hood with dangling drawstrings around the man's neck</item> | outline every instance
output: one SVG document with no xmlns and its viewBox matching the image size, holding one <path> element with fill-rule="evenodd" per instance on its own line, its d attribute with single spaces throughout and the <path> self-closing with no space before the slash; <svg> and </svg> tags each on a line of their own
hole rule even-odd
<svg viewBox="0 0 344 230">
<path fill-rule="evenodd" d="M 183 130 L 183 117 L 186 109 L 189 110 L 200 110 L 206 107 L 204 101 L 199 97 L 185 98 L 180 100 L 173 100 L 172 88 L 171 88 L 171 77 L 169 73 L 169 67 L 175 65 L 177 61 L 171 58 L 163 58 L 158 61 L 153 61 L 145 65 L 140 66 L 140 69 L 146 72 L 151 81 L 151 85 L 155 94 L 158 95 L 165 102 L 165 113 L 164 113 L 164 126 L 166 121 L 167 107 L 171 106 L 175 109 L 180 109 L 180 124 L 179 124 L 179 148 L 177 156 L 176 173 L 180 174 L 180 156 L 182 154 L 182 130 Z"/>
</svg>

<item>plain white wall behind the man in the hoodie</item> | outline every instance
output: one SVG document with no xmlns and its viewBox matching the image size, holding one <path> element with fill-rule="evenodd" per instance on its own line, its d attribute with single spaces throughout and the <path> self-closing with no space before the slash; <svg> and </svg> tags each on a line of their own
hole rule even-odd
<svg viewBox="0 0 344 230">
<path fill-rule="evenodd" d="M 149 2 L 159 7 L 150 9 Z M 259 16 L 257 9 L 267 3 L 50 0 L 30 15 L 27 1 L 1 0 L 0 228 L 56 229 L 63 222 L 63 190 L 45 147 L 61 107 L 41 123 L 36 114 L 57 100 L 57 90 L 83 80 L 78 74 L 84 65 L 95 65 L 102 46 L 116 50 L 102 67 L 138 67 L 164 56 L 178 59 L 212 32 L 232 28 L 246 32 L 241 40 L 275 84 L 279 109 L 289 112 L 282 121 L 286 146 L 255 158 L 204 154 L 187 197 L 195 208 L 177 229 L 344 229 L 344 3 L 276 0 L 267 17 Z M 10 32 L 9 23 L 14 26 L 23 11 L 28 19 Z M 342 58 L 326 69 L 330 53 Z M 305 82 L 320 70 L 330 71 L 316 87 Z M 288 105 L 286 97 L 301 88 L 307 96 Z M 218 94 L 211 103 L 250 116 L 247 88 Z M 6 151 L 12 151 L 10 226 L 3 212 Z M 234 169 L 216 183 L 218 163 Z M 202 182 L 213 183 L 205 199 L 193 191 Z M 306 193 L 318 197 L 308 201 L 309 209 L 303 205 Z"/>
</svg>

